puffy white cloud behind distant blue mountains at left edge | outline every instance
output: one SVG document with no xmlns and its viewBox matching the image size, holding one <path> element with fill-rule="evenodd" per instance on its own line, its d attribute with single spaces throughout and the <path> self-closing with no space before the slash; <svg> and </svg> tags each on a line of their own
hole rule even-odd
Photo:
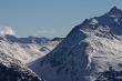
<svg viewBox="0 0 122 81">
<path fill-rule="evenodd" d="M 0 28 L 0 36 L 14 36 L 16 32 L 12 30 L 11 27 L 4 27 L 4 28 Z"/>
</svg>

